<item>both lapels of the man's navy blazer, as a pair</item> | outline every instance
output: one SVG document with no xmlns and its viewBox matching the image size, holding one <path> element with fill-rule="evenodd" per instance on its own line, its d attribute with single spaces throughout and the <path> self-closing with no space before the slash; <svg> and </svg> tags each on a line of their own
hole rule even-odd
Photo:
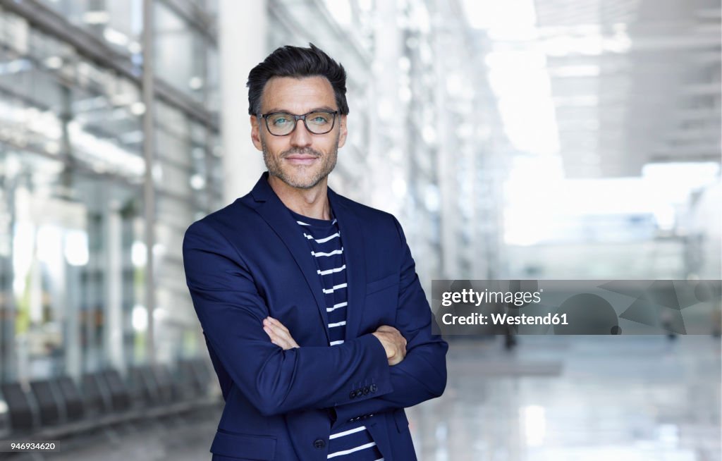
<svg viewBox="0 0 722 461">
<path fill-rule="evenodd" d="M 323 319 L 323 329 L 326 332 L 326 341 L 329 341 L 329 315 L 326 312 L 326 301 L 323 297 L 321 279 L 316 273 L 316 264 L 310 256 L 308 243 L 304 241 L 302 232 L 294 221 L 288 209 L 276 195 L 268 182 L 269 173 L 264 172 L 253 189 L 251 196 L 258 203 L 256 211 L 276 232 L 284 245 L 288 248 L 296 265 L 303 273 L 308 288 L 316 299 L 318 311 Z M 364 258 L 364 240 L 361 232 L 360 219 L 347 205 L 347 201 L 328 189 L 329 203 L 334 216 L 338 219 L 341 240 L 344 245 L 344 259 L 347 268 L 348 307 L 346 322 L 346 338 L 357 337 L 361 320 L 363 303 L 365 301 L 366 266 Z"/>
</svg>

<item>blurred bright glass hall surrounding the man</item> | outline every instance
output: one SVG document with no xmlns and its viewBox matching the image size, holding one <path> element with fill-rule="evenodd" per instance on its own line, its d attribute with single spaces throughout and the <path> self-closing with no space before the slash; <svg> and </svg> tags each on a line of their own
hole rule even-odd
<svg viewBox="0 0 722 461">
<path fill-rule="evenodd" d="M 346 67 L 330 185 L 399 217 L 427 291 L 721 278 L 721 24 L 718 0 L 0 0 L 0 439 L 209 459 L 181 242 L 264 170 L 245 79 L 280 45 Z M 454 338 L 419 460 L 720 460 L 719 321 Z"/>
</svg>

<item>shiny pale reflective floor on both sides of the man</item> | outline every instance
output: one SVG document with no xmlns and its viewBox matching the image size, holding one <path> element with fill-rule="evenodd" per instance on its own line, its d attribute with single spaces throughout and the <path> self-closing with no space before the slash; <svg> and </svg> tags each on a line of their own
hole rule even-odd
<svg viewBox="0 0 722 461">
<path fill-rule="evenodd" d="M 445 395 L 408 410 L 419 460 L 721 459 L 718 339 L 500 339 L 451 341 Z M 45 459 L 209 460 L 218 416 L 121 427 Z"/>
</svg>

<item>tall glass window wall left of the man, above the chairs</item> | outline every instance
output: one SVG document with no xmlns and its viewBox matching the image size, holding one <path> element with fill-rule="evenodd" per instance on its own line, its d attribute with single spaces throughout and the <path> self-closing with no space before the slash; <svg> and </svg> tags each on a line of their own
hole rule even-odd
<svg viewBox="0 0 722 461">
<path fill-rule="evenodd" d="M 137 69 L 131 55 L 142 51 L 142 1 L 45 4 L 102 37 L 108 53 L 121 51 L 124 65 Z M 154 353 L 170 361 L 195 356 L 203 346 L 181 283 L 181 243 L 192 221 L 218 207 L 221 188 L 218 133 L 192 121 L 193 114 L 178 109 L 186 102 L 173 98 L 202 103 L 212 87 L 217 92 L 217 71 L 204 58 L 210 51 L 217 66 L 217 53 L 199 30 L 157 8 L 158 27 L 168 32 L 157 43 L 170 53 L 161 53 L 158 76 L 181 90 L 152 107 L 153 254 L 160 274 Z M 181 57 L 173 49 L 178 34 L 188 40 Z M 138 82 L 3 12 L 0 90 L 0 380 L 77 377 L 147 361 L 147 108 Z"/>
</svg>

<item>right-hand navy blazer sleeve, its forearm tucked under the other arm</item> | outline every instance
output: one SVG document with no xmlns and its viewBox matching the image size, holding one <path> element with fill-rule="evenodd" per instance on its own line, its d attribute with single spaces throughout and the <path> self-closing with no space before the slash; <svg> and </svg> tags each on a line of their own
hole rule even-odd
<svg viewBox="0 0 722 461">
<path fill-rule="evenodd" d="M 406 408 L 439 397 L 446 387 L 446 351 L 448 344 L 432 334 L 429 303 L 419 283 L 416 265 L 406 243 L 401 224 L 393 219 L 401 239 L 401 282 L 396 327 L 406 338 L 406 357 L 390 366 L 393 391 L 378 397 L 336 405 L 334 428 L 359 416 L 368 416 L 396 408 Z"/>
</svg>

